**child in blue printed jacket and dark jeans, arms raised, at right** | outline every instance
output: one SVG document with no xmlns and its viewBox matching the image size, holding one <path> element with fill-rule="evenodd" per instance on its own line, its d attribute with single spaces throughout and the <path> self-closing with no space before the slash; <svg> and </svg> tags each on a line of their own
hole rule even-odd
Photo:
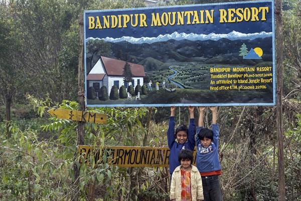
<svg viewBox="0 0 301 201">
<path fill-rule="evenodd" d="M 218 175 L 222 174 L 218 155 L 219 128 L 216 123 L 216 107 L 210 107 L 212 112 L 212 130 L 204 128 L 204 111 L 199 107 L 199 127 L 197 127 L 197 168 L 201 173 L 204 200 L 222 201 L 222 190 Z"/>
</svg>

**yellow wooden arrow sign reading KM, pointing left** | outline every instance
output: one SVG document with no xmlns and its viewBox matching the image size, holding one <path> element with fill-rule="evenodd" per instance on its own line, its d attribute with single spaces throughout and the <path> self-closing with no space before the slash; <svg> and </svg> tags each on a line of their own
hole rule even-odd
<svg viewBox="0 0 301 201">
<path fill-rule="evenodd" d="M 86 111 L 76 111 L 76 110 L 67 110 L 67 109 L 57 109 L 54 108 L 47 111 L 52 117 L 57 117 L 58 119 L 69 119 L 80 122 L 89 122 L 96 124 L 106 123 L 107 116 L 106 114 L 100 113 L 89 113 Z"/>
</svg>

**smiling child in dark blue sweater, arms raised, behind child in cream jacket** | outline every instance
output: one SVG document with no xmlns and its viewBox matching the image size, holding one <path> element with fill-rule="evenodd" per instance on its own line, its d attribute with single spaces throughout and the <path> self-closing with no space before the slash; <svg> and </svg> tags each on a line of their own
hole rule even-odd
<svg viewBox="0 0 301 201">
<path fill-rule="evenodd" d="M 196 145 L 195 134 L 196 134 L 196 125 L 194 120 L 194 107 L 188 107 L 190 120 L 189 127 L 186 125 L 178 126 L 175 132 L 175 112 L 176 107 L 171 107 L 171 116 L 168 125 L 167 131 L 167 141 L 170 148 L 169 156 L 169 165 L 170 165 L 170 174 L 172 176 L 176 167 L 181 165 L 178 160 L 179 153 L 182 149 L 194 150 Z"/>
</svg>

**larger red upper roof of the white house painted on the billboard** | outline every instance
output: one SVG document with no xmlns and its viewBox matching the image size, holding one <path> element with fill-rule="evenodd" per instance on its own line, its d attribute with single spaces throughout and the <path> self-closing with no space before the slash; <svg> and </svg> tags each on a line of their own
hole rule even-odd
<svg viewBox="0 0 301 201">
<path fill-rule="evenodd" d="M 105 71 L 108 76 L 122 76 L 125 61 L 111 59 L 101 56 Z M 130 65 L 131 72 L 135 77 L 144 77 L 145 72 L 142 65 L 127 62 Z"/>
</svg>

